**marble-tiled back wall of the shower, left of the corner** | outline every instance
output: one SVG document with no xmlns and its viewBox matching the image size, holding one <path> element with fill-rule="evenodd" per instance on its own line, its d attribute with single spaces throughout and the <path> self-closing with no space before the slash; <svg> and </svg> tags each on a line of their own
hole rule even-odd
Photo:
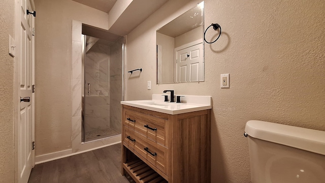
<svg viewBox="0 0 325 183">
<path fill-rule="evenodd" d="M 110 128 L 110 47 L 95 43 L 85 55 L 85 133 Z"/>
</svg>

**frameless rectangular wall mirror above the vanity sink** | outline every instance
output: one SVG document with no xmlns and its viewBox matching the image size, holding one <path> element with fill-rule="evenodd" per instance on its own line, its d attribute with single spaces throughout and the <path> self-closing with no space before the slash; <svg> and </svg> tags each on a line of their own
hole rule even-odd
<svg viewBox="0 0 325 183">
<path fill-rule="evenodd" d="M 157 84 L 204 81 L 204 2 L 156 31 Z"/>
</svg>

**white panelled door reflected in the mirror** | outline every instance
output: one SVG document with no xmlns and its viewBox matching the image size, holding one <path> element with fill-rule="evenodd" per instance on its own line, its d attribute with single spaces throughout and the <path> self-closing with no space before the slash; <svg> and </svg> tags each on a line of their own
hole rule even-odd
<svg viewBox="0 0 325 183">
<path fill-rule="evenodd" d="M 176 50 L 176 82 L 203 80 L 203 43 Z"/>
</svg>

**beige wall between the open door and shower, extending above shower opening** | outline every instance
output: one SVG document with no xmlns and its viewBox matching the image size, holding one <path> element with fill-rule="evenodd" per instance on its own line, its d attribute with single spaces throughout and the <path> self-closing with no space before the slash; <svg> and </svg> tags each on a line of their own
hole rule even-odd
<svg viewBox="0 0 325 183">
<path fill-rule="evenodd" d="M 36 156 L 70 149 L 72 20 L 108 29 L 108 14 L 70 0 L 35 0 Z"/>
</svg>

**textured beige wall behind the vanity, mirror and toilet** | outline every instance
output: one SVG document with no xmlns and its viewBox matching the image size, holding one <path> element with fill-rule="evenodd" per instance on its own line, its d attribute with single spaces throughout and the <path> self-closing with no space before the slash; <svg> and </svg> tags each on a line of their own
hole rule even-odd
<svg viewBox="0 0 325 183">
<path fill-rule="evenodd" d="M 212 96 L 211 176 L 249 182 L 245 123 L 250 119 L 325 131 L 325 2 L 205 1 L 205 24 L 222 26 L 205 44 L 205 82 L 151 85 L 155 81 L 155 31 L 199 1 L 169 1 L 127 35 L 127 100 L 175 94 Z M 209 30 L 207 40 L 216 32 Z M 230 88 L 220 74 L 230 73 Z M 154 83 L 154 82 L 152 82 Z"/>
</svg>

